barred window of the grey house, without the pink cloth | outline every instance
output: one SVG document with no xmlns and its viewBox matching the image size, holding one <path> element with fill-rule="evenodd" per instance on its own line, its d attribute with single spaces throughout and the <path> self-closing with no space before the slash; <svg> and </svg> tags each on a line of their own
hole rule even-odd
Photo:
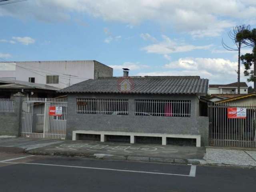
<svg viewBox="0 0 256 192">
<path fill-rule="evenodd" d="M 77 113 L 128 115 L 128 99 L 78 98 Z"/>
</svg>

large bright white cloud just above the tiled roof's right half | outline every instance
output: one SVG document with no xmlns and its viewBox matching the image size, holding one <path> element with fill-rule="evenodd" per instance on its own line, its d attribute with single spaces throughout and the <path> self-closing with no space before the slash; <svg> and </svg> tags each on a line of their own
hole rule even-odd
<svg viewBox="0 0 256 192">
<path fill-rule="evenodd" d="M 140 72 L 137 75 L 145 76 L 179 76 L 199 75 L 208 78 L 210 83 L 231 83 L 237 80 L 237 62 L 222 58 L 180 58 L 177 61 L 164 65 L 164 71 Z M 244 66 L 241 66 L 241 81 L 246 81 L 243 75 Z"/>
</svg>

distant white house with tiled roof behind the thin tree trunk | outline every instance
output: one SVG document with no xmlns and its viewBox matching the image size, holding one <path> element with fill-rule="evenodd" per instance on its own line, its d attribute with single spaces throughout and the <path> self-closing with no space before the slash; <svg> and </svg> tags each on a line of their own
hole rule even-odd
<svg viewBox="0 0 256 192">
<path fill-rule="evenodd" d="M 238 82 L 230 84 L 209 84 L 208 94 L 238 94 Z M 240 94 L 248 94 L 246 82 L 240 82 Z"/>
</svg>

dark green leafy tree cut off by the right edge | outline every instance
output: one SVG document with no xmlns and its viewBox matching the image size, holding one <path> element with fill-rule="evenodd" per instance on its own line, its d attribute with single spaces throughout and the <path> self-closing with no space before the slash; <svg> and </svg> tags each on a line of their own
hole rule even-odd
<svg viewBox="0 0 256 192">
<path fill-rule="evenodd" d="M 241 56 L 244 64 L 244 75 L 249 76 L 248 82 L 254 82 L 254 92 L 256 92 L 256 28 L 244 30 L 243 38 L 245 44 L 252 48 L 252 53 L 246 53 Z M 253 66 L 253 70 L 251 69 Z"/>
</svg>

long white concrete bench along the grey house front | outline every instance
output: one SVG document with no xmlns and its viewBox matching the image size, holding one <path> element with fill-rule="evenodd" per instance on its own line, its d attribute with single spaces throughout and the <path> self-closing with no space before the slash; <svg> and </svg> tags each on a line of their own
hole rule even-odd
<svg viewBox="0 0 256 192">
<path fill-rule="evenodd" d="M 118 136 L 130 136 L 130 143 L 134 144 L 135 136 L 146 136 L 146 137 L 162 137 L 162 145 L 166 145 L 166 138 L 189 138 L 196 139 L 196 146 L 201 146 L 201 136 L 200 135 L 184 135 L 184 134 L 160 134 L 160 133 L 136 133 L 136 132 L 114 132 L 114 131 L 86 131 L 86 130 L 76 130 L 73 131 L 72 140 L 78 139 L 77 134 L 93 134 L 100 135 L 100 141 L 106 141 L 106 135 L 118 135 Z"/>
</svg>

